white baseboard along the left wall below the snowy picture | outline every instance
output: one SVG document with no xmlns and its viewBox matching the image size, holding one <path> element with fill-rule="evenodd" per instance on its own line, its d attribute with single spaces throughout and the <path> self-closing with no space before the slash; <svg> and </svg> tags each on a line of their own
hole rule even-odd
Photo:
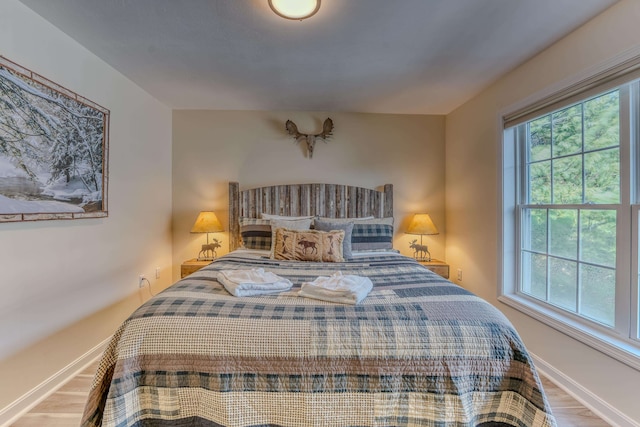
<svg viewBox="0 0 640 427">
<path fill-rule="evenodd" d="M 31 408 L 49 397 L 64 383 L 82 372 L 88 365 L 93 363 L 104 351 L 111 338 L 107 338 L 94 348 L 69 363 L 67 366 L 47 378 L 31 391 L 11 403 L 9 406 L 0 409 L 0 427 L 8 427 L 14 423 Z"/>
</svg>

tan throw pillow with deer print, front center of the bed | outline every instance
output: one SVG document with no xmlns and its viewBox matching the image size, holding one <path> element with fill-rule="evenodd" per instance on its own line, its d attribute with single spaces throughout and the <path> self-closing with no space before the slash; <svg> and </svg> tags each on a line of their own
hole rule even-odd
<svg viewBox="0 0 640 427">
<path fill-rule="evenodd" d="M 295 261 L 343 262 L 344 231 L 276 229 L 274 258 Z"/>
</svg>

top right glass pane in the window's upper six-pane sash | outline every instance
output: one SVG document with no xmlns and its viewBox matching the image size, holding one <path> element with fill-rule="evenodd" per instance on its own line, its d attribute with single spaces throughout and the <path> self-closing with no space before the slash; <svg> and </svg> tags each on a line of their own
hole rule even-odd
<svg viewBox="0 0 640 427">
<path fill-rule="evenodd" d="M 619 93 L 607 93 L 584 103 L 584 149 L 620 144 Z"/>
</svg>

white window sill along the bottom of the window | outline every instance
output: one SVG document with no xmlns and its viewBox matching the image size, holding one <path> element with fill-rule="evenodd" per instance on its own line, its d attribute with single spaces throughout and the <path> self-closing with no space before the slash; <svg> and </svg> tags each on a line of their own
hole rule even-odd
<svg viewBox="0 0 640 427">
<path fill-rule="evenodd" d="M 520 295 L 501 295 L 500 302 L 512 307 L 578 341 L 598 350 L 607 356 L 640 371 L 640 347 L 628 339 L 621 339 L 612 333 L 606 333 L 573 317 L 537 304 Z"/>
</svg>

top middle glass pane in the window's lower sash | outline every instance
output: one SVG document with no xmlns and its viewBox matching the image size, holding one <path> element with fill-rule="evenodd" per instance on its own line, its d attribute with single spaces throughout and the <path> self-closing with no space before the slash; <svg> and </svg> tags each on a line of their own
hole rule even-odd
<svg viewBox="0 0 640 427">
<path fill-rule="evenodd" d="M 549 253 L 577 259 L 578 211 L 575 209 L 549 210 Z"/>
</svg>

